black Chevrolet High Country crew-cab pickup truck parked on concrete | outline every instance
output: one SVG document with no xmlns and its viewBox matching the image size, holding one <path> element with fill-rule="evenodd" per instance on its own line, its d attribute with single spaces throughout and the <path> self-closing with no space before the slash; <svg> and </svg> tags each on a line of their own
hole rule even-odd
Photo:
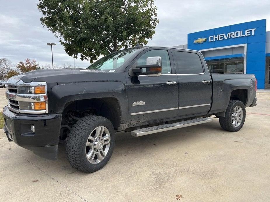
<svg viewBox="0 0 270 202">
<path fill-rule="evenodd" d="M 65 142 L 70 164 L 83 172 L 110 159 L 115 132 L 135 137 L 212 121 L 236 132 L 245 107 L 256 105 L 254 75 L 211 75 L 200 52 L 135 47 L 86 69 L 34 70 L 6 86 L 9 141 L 48 159 Z"/>
</svg>

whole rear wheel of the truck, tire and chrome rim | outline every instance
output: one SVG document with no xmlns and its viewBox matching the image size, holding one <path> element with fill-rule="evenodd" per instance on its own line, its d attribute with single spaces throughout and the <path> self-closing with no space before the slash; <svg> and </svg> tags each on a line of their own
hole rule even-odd
<svg viewBox="0 0 270 202">
<path fill-rule="evenodd" d="M 245 105 L 239 100 L 230 100 L 225 116 L 219 117 L 223 130 L 237 132 L 245 123 Z"/>
</svg>

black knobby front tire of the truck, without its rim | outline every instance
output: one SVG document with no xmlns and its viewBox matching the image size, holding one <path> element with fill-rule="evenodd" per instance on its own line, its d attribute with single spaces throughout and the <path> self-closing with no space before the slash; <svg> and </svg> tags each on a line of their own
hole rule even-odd
<svg viewBox="0 0 270 202">
<path fill-rule="evenodd" d="M 90 133 L 97 127 L 106 127 L 110 133 L 110 145 L 107 155 L 96 164 L 92 164 L 86 157 L 86 143 Z M 85 116 L 77 121 L 67 136 L 66 155 L 69 163 L 80 171 L 92 173 L 107 164 L 115 145 L 115 132 L 112 123 L 102 116 Z"/>
</svg>

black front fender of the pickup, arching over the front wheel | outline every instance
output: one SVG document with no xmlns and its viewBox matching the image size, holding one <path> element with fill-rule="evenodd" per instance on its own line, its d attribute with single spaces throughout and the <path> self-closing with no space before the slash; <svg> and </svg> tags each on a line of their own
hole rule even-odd
<svg viewBox="0 0 270 202">
<path fill-rule="evenodd" d="M 67 103 L 76 100 L 115 98 L 119 102 L 122 121 L 128 122 L 126 86 L 121 81 L 58 83 L 51 88 L 48 98 L 50 113 L 62 113 Z"/>
</svg>

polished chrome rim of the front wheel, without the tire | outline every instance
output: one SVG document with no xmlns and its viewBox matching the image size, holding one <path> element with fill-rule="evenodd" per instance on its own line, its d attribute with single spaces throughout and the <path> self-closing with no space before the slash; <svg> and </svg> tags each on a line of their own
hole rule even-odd
<svg viewBox="0 0 270 202">
<path fill-rule="evenodd" d="M 111 136 L 109 130 L 104 126 L 96 127 L 89 135 L 85 154 L 92 164 L 101 162 L 107 155 L 110 148 Z"/>
</svg>

